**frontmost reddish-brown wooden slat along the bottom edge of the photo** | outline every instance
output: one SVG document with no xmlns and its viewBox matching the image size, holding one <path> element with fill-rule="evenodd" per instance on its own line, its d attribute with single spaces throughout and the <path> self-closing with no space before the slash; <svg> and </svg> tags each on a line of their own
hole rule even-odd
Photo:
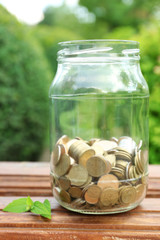
<svg viewBox="0 0 160 240">
<path fill-rule="evenodd" d="M 0 240 L 159 240 L 160 232 L 154 230 L 79 230 L 1 228 Z"/>
</svg>

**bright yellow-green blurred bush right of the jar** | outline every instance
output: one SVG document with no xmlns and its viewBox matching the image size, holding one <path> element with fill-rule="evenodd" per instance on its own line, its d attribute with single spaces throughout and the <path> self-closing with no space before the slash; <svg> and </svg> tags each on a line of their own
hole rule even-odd
<svg viewBox="0 0 160 240">
<path fill-rule="evenodd" d="M 160 25 L 156 22 L 141 26 L 138 33 L 133 27 L 118 27 L 108 38 L 139 41 L 141 70 L 150 90 L 149 143 L 150 163 L 160 163 Z M 106 38 L 106 35 L 104 36 Z"/>
</svg>

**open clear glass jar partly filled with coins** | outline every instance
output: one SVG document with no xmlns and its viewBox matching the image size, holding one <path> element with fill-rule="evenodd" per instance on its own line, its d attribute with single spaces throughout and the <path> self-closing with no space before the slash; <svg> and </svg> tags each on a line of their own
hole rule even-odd
<svg viewBox="0 0 160 240">
<path fill-rule="evenodd" d="M 80 213 L 133 209 L 146 195 L 148 176 L 149 90 L 139 43 L 59 45 L 49 93 L 54 197 Z"/>
</svg>

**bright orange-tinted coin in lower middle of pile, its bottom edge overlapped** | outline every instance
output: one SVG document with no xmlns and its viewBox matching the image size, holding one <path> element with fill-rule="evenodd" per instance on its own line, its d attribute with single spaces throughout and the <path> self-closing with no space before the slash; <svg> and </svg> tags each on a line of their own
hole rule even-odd
<svg viewBox="0 0 160 240">
<path fill-rule="evenodd" d="M 98 184 L 97 184 L 102 190 L 105 188 L 114 188 L 114 189 L 118 189 L 119 187 L 119 181 L 118 178 L 116 176 L 114 176 L 113 174 L 107 174 L 102 176 L 99 180 L 98 180 Z"/>
</svg>

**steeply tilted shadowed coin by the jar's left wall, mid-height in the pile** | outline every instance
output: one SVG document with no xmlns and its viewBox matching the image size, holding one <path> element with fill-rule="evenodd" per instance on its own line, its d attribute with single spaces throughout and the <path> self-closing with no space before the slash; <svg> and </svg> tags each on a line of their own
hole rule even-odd
<svg viewBox="0 0 160 240">
<path fill-rule="evenodd" d="M 63 154 L 59 163 L 54 167 L 54 172 L 58 177 L 65 175 L 70 168 L 70 157 Z"/>
</svg>

